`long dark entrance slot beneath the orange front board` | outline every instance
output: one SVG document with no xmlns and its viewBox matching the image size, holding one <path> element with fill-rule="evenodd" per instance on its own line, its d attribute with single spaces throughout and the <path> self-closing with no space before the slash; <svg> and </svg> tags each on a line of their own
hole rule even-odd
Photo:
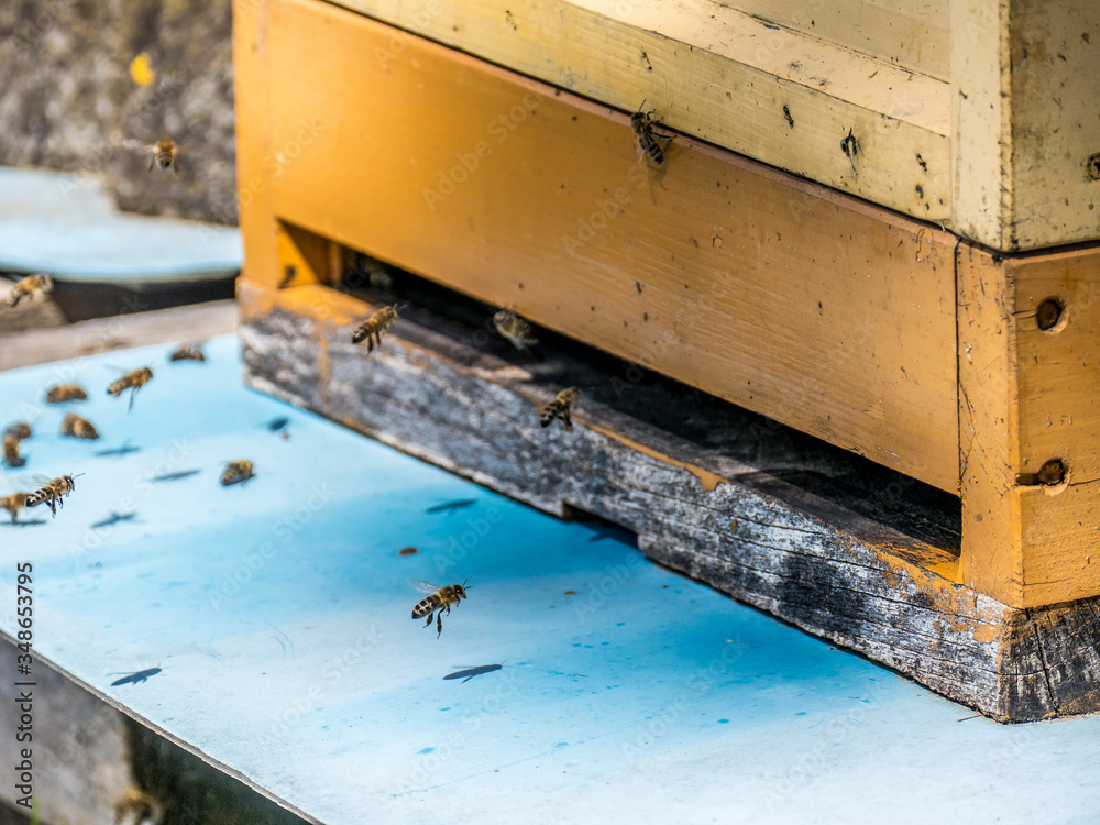
<svg viewBox="0 0 1100 825">
<path fill-rule="evenodd" d="M 367 255 L 352 255 L 338 288 L 372 302 L 407 304 L 404 318 L 459 344 L 448 356 L 470 358 L 473 350 L 522 367 L 548 391 L 583 387 L 586 399 L 748 464 L 759 473 L 738 481 L 761 493 L 781 497 L 791 485 L 827 503 L 824 514 L 839 507 L 959 554 L 958 496 L 541 327 L 539 344 L 520 352 L 493 328 L 502 307 Z"/>
</svg>

